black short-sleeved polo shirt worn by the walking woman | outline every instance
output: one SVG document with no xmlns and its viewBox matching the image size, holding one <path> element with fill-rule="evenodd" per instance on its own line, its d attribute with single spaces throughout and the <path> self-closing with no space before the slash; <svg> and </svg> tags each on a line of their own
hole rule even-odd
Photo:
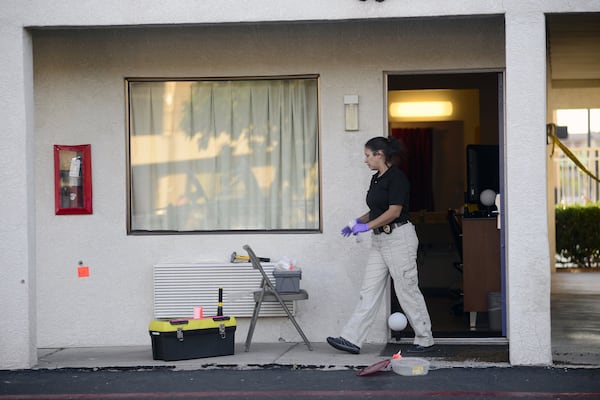
<svg viewBox="0 0 600 400">
<path fill-rule="evenodd" d="M 367 192 L 369 221 L 379 217 L 390 205 L 401 205 L 402 212 L 393 222 L 407 221 L 409 217 L 410 182 L 398 167 L 392 165 L 381 177 L 377 174 L 371 178 Z"/>
</svg>

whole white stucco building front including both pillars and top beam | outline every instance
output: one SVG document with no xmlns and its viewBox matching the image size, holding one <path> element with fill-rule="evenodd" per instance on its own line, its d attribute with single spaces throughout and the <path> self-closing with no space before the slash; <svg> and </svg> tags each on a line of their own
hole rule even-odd
<svg viewBox="0 0 600 400">
<path fill-rule="evenodd" d="M 543 15 L 575 10 L 558 0 L 251 3 L 217 8 L 190 0 L 177 9 L 154 1 L 2 3 L 0 48 L 8 57 L 0 62 L 6 128 L 0 174 L 7 222 L 0 251 L 9 267 L 0 270 L 0 304 L 8 316 L 0 368 L 35 364 L 38 347 L 147 344 L 152 265 L 226 261 L 245 243 L 259 255 L 296 257 L 311 293 L 299 307 L 301 325 L 314 341 L 336 334 L 352 311 L 368 246 L 368 240 L 343 239 L 339 230 L 365 209 L 359 193 L 370 172 L 362 146 L 385 131 L 384 71 L 504 68 L 511 362 L 550 363 L 547 213 L 524 204 L 546 204 L 543 185 L 530 184 L 545 181 Z M 600 2 L 578 7 L 598 11 Z M 437 18 L 458 15 L 478 17 Z M 299 23 L 265 23 L 281 21 Z M 323 233 L 126 234 L 125 77 L 303 73 L 321 79 Z M 360 97 L 354 133 L 343 129 L 347 94 Z M 83 143 L 92 144 L 94 214 L 55 216 L 52 145 Z M 80 260 L 90 266 L 90 278 L 77 279 Z M 379 320 L 370 341 L 387 338 Z M 246 324 L 239 321 L 240 333 Z M 279 338 L 295 340 L 295 332 L 283 319 L 261 321 L 256 341 Z"/>
</svg>

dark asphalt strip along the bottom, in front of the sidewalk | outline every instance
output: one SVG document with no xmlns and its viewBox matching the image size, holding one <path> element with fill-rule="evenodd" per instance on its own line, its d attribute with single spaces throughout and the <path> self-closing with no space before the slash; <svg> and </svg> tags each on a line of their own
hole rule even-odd
<svg viewBox="0 0 600 400">
<path fill-rule="evenodd" d="M 352 369 L 55 369 L 0 372 L 0 400 L 600 399 L 592 368 L 442 368 L 422 376 Z"/>
</svg>

